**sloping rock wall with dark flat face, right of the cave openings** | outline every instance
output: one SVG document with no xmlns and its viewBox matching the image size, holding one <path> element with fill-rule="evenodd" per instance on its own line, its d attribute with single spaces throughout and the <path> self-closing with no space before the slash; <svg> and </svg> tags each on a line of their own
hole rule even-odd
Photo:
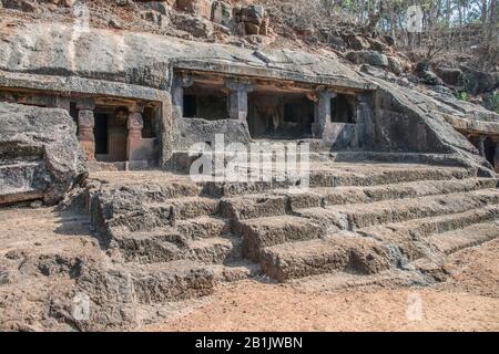
<svg viewBox="0 0 499 354">
<path fill-rule="evenodd" d="M 457 132 L 449 122 L 452 114 L 461 115 L 452 106 L 400 85 L 370 77 L 378 85 L 376 111 L 367 145 L 374 150 L 457 154 L 480 174 L 491 175 L 491 165 L 478 149 Z"/>
</svg>

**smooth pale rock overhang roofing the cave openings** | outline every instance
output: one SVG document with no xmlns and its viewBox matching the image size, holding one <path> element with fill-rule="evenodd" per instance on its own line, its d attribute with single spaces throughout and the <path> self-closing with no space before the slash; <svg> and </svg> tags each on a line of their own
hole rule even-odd
<svg viewBox="0 0 499 354">
<path fill-rule="evenodd" d="M 0 70 L 80 76 L 167 90 L 172 69 L 374 90 L 338 59 L 253 50 L 172 37 L 38 23 L 0 40 Z"/>
</svg>

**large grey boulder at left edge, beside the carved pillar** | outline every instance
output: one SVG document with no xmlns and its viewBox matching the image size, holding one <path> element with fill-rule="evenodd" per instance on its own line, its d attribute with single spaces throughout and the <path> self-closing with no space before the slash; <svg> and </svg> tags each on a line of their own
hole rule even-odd
<svg viewBox="0 0 499 354">
<path fill-rule="evenodd" d="M 86 174 L 67 111 L 0 103 L 0 205 L 54 205 Z"/>
</svg>

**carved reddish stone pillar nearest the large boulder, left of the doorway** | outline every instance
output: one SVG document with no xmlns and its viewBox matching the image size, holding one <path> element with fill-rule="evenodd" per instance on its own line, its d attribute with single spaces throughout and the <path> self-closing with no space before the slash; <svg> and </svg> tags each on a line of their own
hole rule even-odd
<svg viewBox="0 0 499 354">
<path fill-rule="evenodd" d="M 93 127 L 95 126 L 95 118 L 93 110 L 95 105 L 91 101 L 77 103 L 78 110 L 78 139 L 85 154 L 86 160 L 95 160 L 95 136 Z"/>
</svg>

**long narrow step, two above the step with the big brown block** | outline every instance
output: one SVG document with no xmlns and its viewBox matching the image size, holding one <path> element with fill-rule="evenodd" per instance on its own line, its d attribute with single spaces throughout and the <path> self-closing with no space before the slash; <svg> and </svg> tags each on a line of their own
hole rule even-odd
<svg viewBox="0 0 499 354">
<path fill-rule="evenodd" d="M 496 188 L 497 184 L 496 178 L 467 178 L 421 180 L 374 187 L 318 187 L 299 194 L 276 189 L 272 194 L 224 198 L 221 212 L 227 218 L 252 219 L 328 205 L 368 204 Z"/>
</svg>

